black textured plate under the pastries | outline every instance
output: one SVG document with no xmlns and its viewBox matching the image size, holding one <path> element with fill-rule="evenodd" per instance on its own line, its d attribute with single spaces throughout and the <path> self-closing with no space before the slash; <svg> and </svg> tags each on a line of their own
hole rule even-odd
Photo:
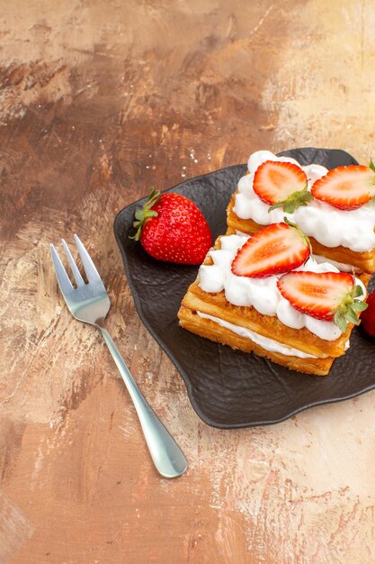
<svg viewBox="0 0 375 564">
<path fill-rule="evenodd" d="M 343 150 L 295 149 L 281 153 L 302 165 L 326 168 L 357 164 Z M 226 208 L 246 165 L 223 168 L 166 190 L 191 198 L 205 215 L 214 239 L 226 232 Z M 278 423 L 313 405 L 358 396 L 375 387 L 375 342 L 361 329 L 351 348 L 326 377 L 299 374 L 253 354 L 235 351 L 181 329 L 177 311 L 197 267 L 159 262 L 129 239 L 134 212 L 146 198 L 116 216 L 114 232 L 138 314 L 183 376 L 192 406 L 214 427 Z"/>
</svg>

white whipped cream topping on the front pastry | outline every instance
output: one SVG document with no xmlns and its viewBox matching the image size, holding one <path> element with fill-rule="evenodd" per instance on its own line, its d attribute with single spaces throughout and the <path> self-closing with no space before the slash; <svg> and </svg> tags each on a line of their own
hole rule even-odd
<svg viewBox="0 0 375 564">
<path fill-rule="evenodd" d="M 342 332 L 334 322 L 320 321 L 306 314 L 302 314 L 290 302 L 281 296 L 277 287 L 280 276 L 266 278 L 238 277 L 233 274 L 231 265 L 237 255 L 237 250 L 247 241 L 248 237 L 240 235 L 227 235 L 221 237 L 221 249 L 210 250 L 213 265 L 201 265 L 199 271 L 199 285 L 205 292 L 221 292 L 233 305 L 253 305 L 263 315 L 276 315 L 284 325 L 293 329 L 307 327 L 317 337 L 326 341 L 335 341 Z M 317 264 L 309 258 L 305 265 L 296 270 L 309 270 L 312 272 L 339 272 L 332 264 L 323 262 Z M 366 288 L 361 280 L 356 278 L 366 296 Z"/>
</svg>

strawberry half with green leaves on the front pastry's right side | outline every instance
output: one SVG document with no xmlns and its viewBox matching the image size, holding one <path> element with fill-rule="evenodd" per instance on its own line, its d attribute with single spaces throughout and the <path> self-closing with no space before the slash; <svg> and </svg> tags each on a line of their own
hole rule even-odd
<svg viewBox="0 0 375 564">
<path fill-rule="evenodd" d="M 366 308 L 357 300 L 362 287 L 354 286 L 354 277 L 346 272 L 289 272 L 277 287 L 295 309 L 321 321 L 335 321 L 342 332 L 347 322 L 358 325 L 356 312 Z"/>
</svg>

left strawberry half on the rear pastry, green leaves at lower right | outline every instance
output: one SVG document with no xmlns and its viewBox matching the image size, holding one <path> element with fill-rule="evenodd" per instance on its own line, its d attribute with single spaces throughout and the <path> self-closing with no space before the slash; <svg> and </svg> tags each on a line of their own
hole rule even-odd
<svg viewBox="0 0 375 564">
<path fill-rule="evenodd" d="M 253 189 L 263 202 L 272 204 L 270 211 L 282 207 L 292 214 L 299 205 L 312 200 L 308 177 L 302 168 L 291 162 L 266 160 L 256 169 Z"/>
</svg>

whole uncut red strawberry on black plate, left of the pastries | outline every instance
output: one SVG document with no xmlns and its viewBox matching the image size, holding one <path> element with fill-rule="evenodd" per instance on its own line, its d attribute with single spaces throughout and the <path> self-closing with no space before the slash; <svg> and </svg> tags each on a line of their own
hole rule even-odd
<svg viewBox="0 0 375 564">
<path fill-rule="evenodd" d="M 192 200 L 180 194 L 161 194 L 151 188 L 147 203 L 135 215 L 134 239 L 140 240 L 151 257 L 181 264 L 203 262 L 212 235 Z"/>
</svg>

